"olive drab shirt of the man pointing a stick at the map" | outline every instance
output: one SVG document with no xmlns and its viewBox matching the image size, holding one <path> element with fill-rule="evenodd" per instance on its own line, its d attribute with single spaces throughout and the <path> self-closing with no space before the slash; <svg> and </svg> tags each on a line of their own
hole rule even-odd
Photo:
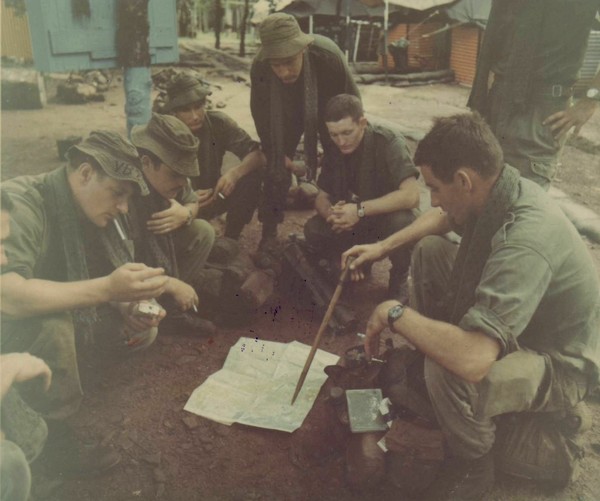
<svg viewBox="0 0 600 501">
<path fill-rule="evenodd" d="M 519 187 L 459 326 L 498 340 L 501 357 L 519 346 L 547 353 L 591 388 L 600 375 L 596 268 L 558 205 L 532 181 Z"/>
</svg>

